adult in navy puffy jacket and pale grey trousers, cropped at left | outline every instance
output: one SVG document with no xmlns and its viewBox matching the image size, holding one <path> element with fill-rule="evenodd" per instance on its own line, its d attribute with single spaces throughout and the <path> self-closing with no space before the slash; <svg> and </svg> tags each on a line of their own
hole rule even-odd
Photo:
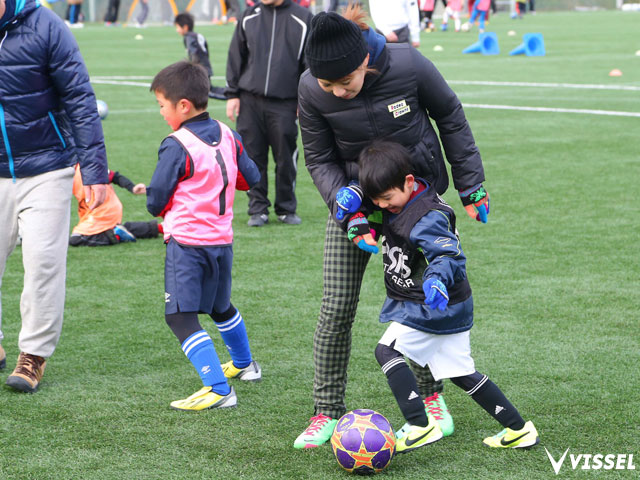
<svg viewBox="0 0 640 480">
<path fill-rule="evenodd" d="M 80 164 L 90 208 L 104 201 L 109 181 L 78 45 L 60 18 L 39 7 L 0 0 L 0 284 L 18 228 L 24 264 L 20 355 L 7 385 L 30 393 L 62 330 L 73 166 Z"/>
</svg>

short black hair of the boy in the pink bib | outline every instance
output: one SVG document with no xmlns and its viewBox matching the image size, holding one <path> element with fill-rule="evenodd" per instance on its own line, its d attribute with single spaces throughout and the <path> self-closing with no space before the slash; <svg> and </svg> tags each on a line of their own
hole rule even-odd
<svg viewBox="0 0 640 480">
<path fill-rule="evenodd" d="M 161 93 L 174 105 L 184 98 L 198 110 L 204 110 L 210 87 L 209 75 L 202 66 L 182 60 L 160 70 L 149 90 Z"/>
</svg>

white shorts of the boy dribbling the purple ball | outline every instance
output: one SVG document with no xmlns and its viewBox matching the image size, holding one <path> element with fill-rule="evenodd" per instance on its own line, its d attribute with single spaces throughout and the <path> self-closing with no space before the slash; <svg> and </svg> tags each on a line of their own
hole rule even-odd
<svg viewBox="0 0 640 480">
<path fill-rule="evenodd" d="M 463 377 L 476 371 L 471 358 L 469 333 L 435 335 L 391 322 L 378 343 L 394 349 L 421 366 L 429 365 L 436 380 Z"/>
</svg>

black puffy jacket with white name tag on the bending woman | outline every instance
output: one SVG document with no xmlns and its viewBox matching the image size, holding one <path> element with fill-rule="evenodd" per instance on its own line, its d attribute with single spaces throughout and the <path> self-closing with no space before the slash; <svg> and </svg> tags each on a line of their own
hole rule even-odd
<svg viewBox="0 0 640 480">
<path fill-rule="evenodd" d="M 370 50 L 371 51 L 371 50 Z M 358 179 L 358 155 L 374 139 L 404 145 L 415 173 L 443 193 L 449 185 L 440 141 L 453 183 L 464 190 L 484 181 L 482 159 L 460 100 L 436 67 L 407 44 L 389 44 L 369 66 L 360 93 L 345 100 L 326 93 L 309 70 L 298 88 L 305 163 L 335 218 L 336 192 Z"/>
</svg>

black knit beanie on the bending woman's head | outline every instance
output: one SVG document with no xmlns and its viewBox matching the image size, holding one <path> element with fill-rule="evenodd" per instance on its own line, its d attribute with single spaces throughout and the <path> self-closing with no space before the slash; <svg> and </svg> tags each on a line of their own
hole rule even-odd
<svg viewBox="0 0 640 480">
<path fill-rule="evenodd" d="M 311 20 L 304 53 L 311 75 L 337 80 L 358 68 L 368 51 L 355 23 L 335 12 L 321 12 Z"/>
</svg>

